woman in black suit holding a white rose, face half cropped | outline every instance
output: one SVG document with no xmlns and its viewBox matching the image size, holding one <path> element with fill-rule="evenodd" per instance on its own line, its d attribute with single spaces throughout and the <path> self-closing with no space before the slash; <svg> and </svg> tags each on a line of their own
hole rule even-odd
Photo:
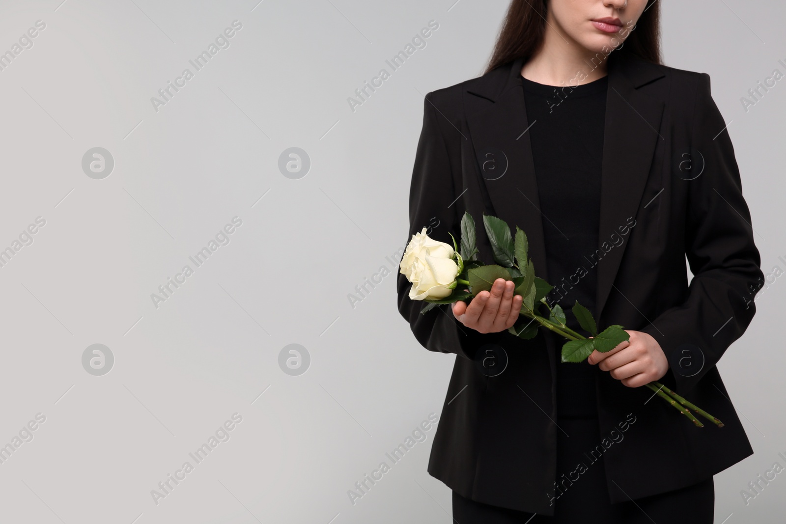
<svg viewBox="0 0 786 524">
<path fill-rule="evenodd" d="M 452 245 L 465 211 L 481 261 L 483 213 L 520 226 L 549 305 L 630 342 L 562 364 L 552 332 L 508 331 L 512 283 L 421 314 L 399 274 L 418 342 L 457 355 L 428 464 L 454 519 L 712 522 L 712 476 L 753 453 L 715 364 L 763 274 L 710 78 L 660 64 L 658 2 L 514 0 L 486 73 L 426 95 L 408 240 Z M 650 401 L 652 380 L 725 426 Z"/>
</svg>

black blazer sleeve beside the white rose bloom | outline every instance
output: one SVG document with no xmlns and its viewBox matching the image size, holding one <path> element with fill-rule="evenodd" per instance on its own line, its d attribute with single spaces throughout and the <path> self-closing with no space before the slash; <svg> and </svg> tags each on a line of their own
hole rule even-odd
<svg viewBox="0 0 786 524">
<path fill-rule="evenodd" d="M 407 243 L 413 234 L 427 228 L 428 236 L 434 240 L 453 245 L 452 233 L 456 243 L 461 241 L 461 217 L 457 207 L 460 205 L 454 187 L 454 176 L 450 167 L 450 156 L 443 134 L 439 127 L 439 119 L 446 117 L 439 114 L 433 102 L 433 92 L 427 93 L 424 99 L 423 127 L 417 142 L 415 165 L 410 183 L 410 233 Z M 463 215 L 463 212 L 462 212 Z M 476 225 L 478 224 L 478 217 Z M 403 255 L 402 255 L 403 258 Z M 399 263 L 401 259 L 399 258 Z M 468 359 L 475 357 L 479 346 L 497 342 L 504 332 L 480 333 L 456 320 L 450 304 L 435 306 L 432 310 L 421 314 L 421 308 L 428 302 L 410 299 L 412 284 L 402 273 L 398 273 L 397 291 L 399 313 L 410 323 L 415 338 L 421 346 L 430 351 L 454 353 Z M 512 336 L 512 335 L 511 335 Z"/>
</svg>

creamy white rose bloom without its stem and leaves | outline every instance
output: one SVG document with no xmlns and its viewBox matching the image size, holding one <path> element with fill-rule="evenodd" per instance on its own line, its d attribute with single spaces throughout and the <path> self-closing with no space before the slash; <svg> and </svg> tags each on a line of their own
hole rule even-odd
<svg viewBox="0 0 786 524">
<path fill-rule="evenodd" d="M 426 228 L 415 233 L 399 264 L 399 273 L 412 282 L 410 299 L 444 299 L 453 292 L 458 265 L 450 244 L 429 238 Z"/>
</svg>

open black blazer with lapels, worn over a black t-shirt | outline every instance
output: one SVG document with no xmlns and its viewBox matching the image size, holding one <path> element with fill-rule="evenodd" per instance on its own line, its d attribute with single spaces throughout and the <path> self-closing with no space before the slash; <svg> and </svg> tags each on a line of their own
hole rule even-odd
<svg viewBox="0 0 786 524">
<path fill-rule="evenodd" d="M 448 232 L 458 240 L 469 211 L 479 258 L 493 264 L 482 213 L 494 214 L 512 233 L 516 225 L 527 233 L 536 274 L 549 280 L 522 65 L 520 58 L 425 96 L 406 241 L 426 226 L 429 236 L 452 245 Z M 599 373 L 604 440 L 597 453 L 612 502 L 700 482 L 753 453 L 715 367 L 751 322 L 763 283 L 725 126 L 706 73 L 619 51 L 608 58 L 601 245 L 592 269 L 598 324 L 652 335 L 670 361 L 660 381 L 725 423 L 695 427 L 663 400 L 649 401 L 648 388 Z M 555 455 L 561 430 L 554 375 L 557 365 L 570 365 L 558 361 L 564 341 L 543 328 L 530 340 L 506 331 L 481 334 L 458 322 L 450 305 L 421 315 L 424 302 L 409 299 L 410 286 L 399 273 L 399 312 L 417 341 L 457 355 L 429 474 L 472 500 L 553 515 L 555 482 L 567 478 L 556 478 L 563 472 L 556 472 Z M 498 376 L 477 365 L 486 354 L 478 348 L 487 343 L 507 356 Z"/>
</svg>

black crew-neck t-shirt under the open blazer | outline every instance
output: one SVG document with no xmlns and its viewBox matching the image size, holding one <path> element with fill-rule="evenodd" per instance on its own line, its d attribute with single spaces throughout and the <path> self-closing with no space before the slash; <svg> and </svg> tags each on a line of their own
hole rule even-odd
<svg viewBox="0 0 786 524">
<path fill-rule="evenodd" d="M 598 247 L 608 77 L 580 86 L 521 80 L 542 212 L 546 270 L 549 284 L 554 286 L 547 300 L 549 305 L 558 303 L 565 310 L 567 326 L 579 331 L 570 311 L 575 302 L 596 314 L 597 268 L 591 255 Z M 558 351 L 563 342 L 560 339 Z M 586 361 L 557 364 L 558 416 L 597 417 L 598 372 L 597 365 Z"/>
</svg>

